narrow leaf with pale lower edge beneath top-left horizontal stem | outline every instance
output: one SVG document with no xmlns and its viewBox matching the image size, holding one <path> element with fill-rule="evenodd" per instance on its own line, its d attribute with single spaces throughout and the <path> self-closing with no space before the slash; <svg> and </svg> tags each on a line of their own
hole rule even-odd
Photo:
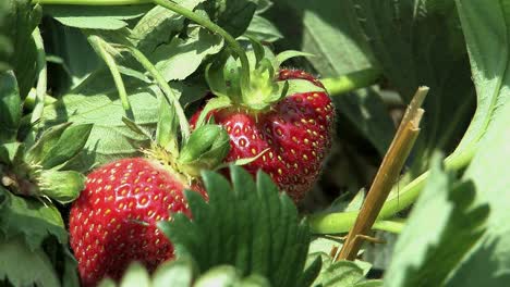
<svg viewBox="0 0 510 287">
<path fill-rule="evenodd" d="M 63 25 L 82 29 L 114 30 L 127 26 L 124 20 L 141 17 L 150 5 L 48 5 L 45 13 Z"/>
</svg>

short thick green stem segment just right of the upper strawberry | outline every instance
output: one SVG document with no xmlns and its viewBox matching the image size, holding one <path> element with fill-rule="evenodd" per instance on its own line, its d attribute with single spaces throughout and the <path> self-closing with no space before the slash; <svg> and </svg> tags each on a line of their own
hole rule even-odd
<svg viewBox="0 0 510 287">
<path fill-rule="evenodd" d="M 352 72 L 340 77 L 324 78 L 320 82 L 326 87 L 330 96 L 336 96 L 372 86 L 379 77 L 379 70 L 366 68 Z"/>
</svg>

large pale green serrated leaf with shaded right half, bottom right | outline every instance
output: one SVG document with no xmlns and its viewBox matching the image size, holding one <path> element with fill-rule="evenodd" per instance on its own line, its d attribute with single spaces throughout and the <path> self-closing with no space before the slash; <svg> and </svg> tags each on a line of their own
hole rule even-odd
<svg viewBox="0 0 510 287">
<path fill-rule="evenodd" d="M 433 159 L 428 182 L 397 241 L 385 275 L 388 286 L 446 285 L 486 232 L 489 207 L 475 201 L 472 182 L 456 183 L 440 162 Z"/>
</svg>

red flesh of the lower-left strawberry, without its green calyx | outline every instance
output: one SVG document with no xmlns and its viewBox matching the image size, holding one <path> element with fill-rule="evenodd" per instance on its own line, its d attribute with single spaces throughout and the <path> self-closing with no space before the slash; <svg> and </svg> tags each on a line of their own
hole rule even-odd
<svg viewBox="0 0 510 287">
<path fill-rule="evenodd" d="M 173 257 L 156 223 L 187 213 L 184 182 L 142 158 L 111 162 L 87 176 L 70 216 L 71 247 L 84 286 L 106 276 L 119 279 L 132 261 L 154 270 Z M 197 185 L 193 188 L 203 192 Z"/>
</svg>

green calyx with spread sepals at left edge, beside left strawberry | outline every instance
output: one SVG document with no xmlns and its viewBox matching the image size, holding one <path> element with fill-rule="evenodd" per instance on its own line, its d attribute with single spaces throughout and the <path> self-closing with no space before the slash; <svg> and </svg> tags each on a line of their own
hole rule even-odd
<svg viewBox="0 0 510 287">
<path fill-rule="evenodd" d="M 85 176 L 62 167 L 82 151 L 90 130 L 92 125 L 68 123 L 47 129 L 34 144 L 0 145 L 0 185 L 20 196 L 73 201 Z"/>
</svg>

